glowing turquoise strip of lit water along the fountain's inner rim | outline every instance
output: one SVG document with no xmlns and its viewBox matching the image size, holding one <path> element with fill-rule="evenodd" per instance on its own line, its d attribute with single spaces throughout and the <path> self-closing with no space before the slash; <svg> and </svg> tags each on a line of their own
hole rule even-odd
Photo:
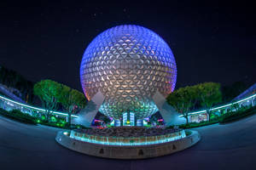
<svg viewBox="0 0 256 170">
<path fill-rule="evenodd" d="M 67 132 L 64 132 L 63 134 L 68 135 Z M 86 136 L 84 136 L 86 135 Z M 73 139 L 77 139 L 80 141 L 84 141 L 84 142 L 88 142 L 88 143 L 92 143 L 92 144 L 105 144 L 105 145 L 129 145 L 129 146 L 133 146 L 133 145 L 148 145 L 148 144 L 162 144 L 162 143 L 166 143 L 166 142 L 171 142 L 173 140 L 177 140 L 177 139 L 183 139 L 186 137 L 186 133 L 184 130 L 176 132 L 176 133 L 169 133 L 166 135 L 160 135 L 160 136 L 151 136 L 151 137 L 141 137 L 141 138 L 118 138 L 118 137 L 102 137 L 102 136 L 95 136 L 95 135 L 89 135 L 89 134 L 85 134 L 85 133 L 76 133 L 71 131 L 70 133 L 70 138 Z M 145 139 L 144 142 L 137 142 L 136 139 Z M 99 139 L 103 139 L 99 140 Z M 116 142 L 111 142 L 109 141 L 109 139 L 115 139 L 115 140 L 119 140 Z M 148 139 L 148 140 L 147 140 Z M 155 139 L 155 140 L 151 140 L 151 139 Z M 127 141 L 130 142 L 128 143 Z M 126 142 L 124 142 L 126 141 Z M 132 141 L 132 142 L 131 142 Z"/>
</svg>

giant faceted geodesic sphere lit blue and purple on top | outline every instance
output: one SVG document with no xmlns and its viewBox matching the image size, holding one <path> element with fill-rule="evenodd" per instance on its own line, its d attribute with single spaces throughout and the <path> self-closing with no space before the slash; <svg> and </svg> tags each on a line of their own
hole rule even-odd
<svg viewBox="0 0 256 170">
<path fill-rule="evenodd" d="M 84 52 L 80 79 L 87 99 L 101 91 L 100 111 L 120 119 L 131 111 L 142 119 L 158 111 L 152 97 L 175 88 L 177 68 L 171 48 L 143 26 L 115 26 L 98 35 Z"/>
</svg>

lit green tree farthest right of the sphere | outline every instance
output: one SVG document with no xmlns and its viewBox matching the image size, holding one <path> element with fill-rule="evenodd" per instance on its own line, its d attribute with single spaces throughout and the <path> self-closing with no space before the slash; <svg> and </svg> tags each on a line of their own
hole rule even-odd
<svg viewBox="0 0 256 170">
<path fill-rule="evenodd" d="M 222 101 L 222 94 L 220 92 L 220 84 L 216 82 L 204 82 L 197 85 L 198 94 L 200 96 L 200 104 L 205 107 L 211 121 L 212 105 Z"/>
</svg>

